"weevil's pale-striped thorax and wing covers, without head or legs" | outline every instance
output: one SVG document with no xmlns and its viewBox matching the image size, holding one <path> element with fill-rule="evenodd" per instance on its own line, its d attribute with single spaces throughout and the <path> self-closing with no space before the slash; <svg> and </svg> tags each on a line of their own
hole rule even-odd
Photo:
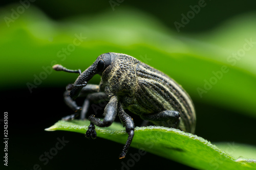
<svg viewBox="0 0 256 170">
<path fill-rule="evenodd" d="M 117 53 L 111 53 L 111 56 L 112 64 L 103 72 L 100 84 L 104 89 L 109 88 L 105 91 L 108 95 L 118 96 L 123 109 L 141 115 L 142 118 L 144 114 L 164 110 L 178 111 L 181 114 L 179 129 L 194 133 L 194 105 L 178 83 L 132 56 Z M 159 125 L 157 122 L 153 124 Z"/>
</svg>

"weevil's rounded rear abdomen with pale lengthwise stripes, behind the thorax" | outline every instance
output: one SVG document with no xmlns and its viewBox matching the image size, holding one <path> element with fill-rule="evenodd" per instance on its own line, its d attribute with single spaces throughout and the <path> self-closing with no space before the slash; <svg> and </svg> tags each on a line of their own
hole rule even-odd
<svg viewBox="0 0 256 170">
<path fill-rule="evenodd" d="M 139 63 L 136 66 L 138 86 L 135 93 L 137 102 L 144 107 L 145 113 L 158 113 L 175 110 L 181 114 L 181 126 L 186 132 L 194 132 L 196 114 L 193 102 L 185 90 L 163 72 Z"/>
</svg>

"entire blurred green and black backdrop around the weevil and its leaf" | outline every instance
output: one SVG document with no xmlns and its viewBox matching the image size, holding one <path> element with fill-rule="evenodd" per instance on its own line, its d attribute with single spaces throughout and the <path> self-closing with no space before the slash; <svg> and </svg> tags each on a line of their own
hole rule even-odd
<svg viewBox="0 0 256 170">
<path fill-rule="evenodd" d="M 196 135 L 211 142 L 255 145 L 255 5 L 254 1 L 1 2 L 1 110 L 9 114 L 8 167 L 121 169 L 131 159 L 118 160 L 122 145 L 112 141 L 44 131 L 72 113 L 62 93 L 77 77 L 50 67 L 59 63 L 84 70 L 108 52 L 136 57 L 179 82 L 195 103 Z M 183 25 L 179 29 L 178 22 Z M 221 74 L 222 66 L 228 71 Z M 99 79 L 95 76 L 90 83 Z M 199 88 L 206 91 L 200 95 Z M 139 119 L 136 122 L 138 126 Z M 40 161 L 63 136 L 70 142 L 49 163 Z M 159 166 L 193 169 L 150 153 L 129 168 Z"/>
</svg>

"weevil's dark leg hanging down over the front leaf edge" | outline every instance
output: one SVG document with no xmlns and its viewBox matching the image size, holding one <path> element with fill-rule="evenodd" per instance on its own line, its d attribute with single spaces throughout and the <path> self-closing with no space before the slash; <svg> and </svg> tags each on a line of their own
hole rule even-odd
<svg viewBox="0 0 256 170">
<path fill-rule="evenodd" d="M 118 116 L 122 122 L 122 124 L 125 126 L 125 131 L 128 133 L 128 139 L 123 147 L 123 150 L 119 156 L 119 159 L 122 159 L 125 157 L 128 149 L 130 148 L 131 142 L 133 140 L 134 136 L 134 122 L 131 116 L 129 116 L 127 113 L 124 112 L 123 107 L 121 103 L 118 103 Z"/>
</svg>

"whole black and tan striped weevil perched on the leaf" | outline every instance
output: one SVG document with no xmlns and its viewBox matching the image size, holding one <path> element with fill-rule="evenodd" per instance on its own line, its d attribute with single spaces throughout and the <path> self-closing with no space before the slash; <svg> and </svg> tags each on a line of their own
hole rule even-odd
<svg viewBox="0 0 256 170">
<path fill-rule="evenodd" d="M 128 134 L 120 159 L 125 157 L 135 130 L 132 115 L 127 114 L 125 110 L 156 126 L 195 132 L 195 108 L 186 91 L 163 72 L 132 56 L 105 53 L 83 72 L 58 64 L 54 65 L 53 69 L 79 74 L 76 81 L 66 87 L 64 93 L 66 104 L 76 113 L 63 119 L 73 119 L 79 113 L 85 117 L 90 103 L 102 100 L 108 102 L 104 108 L 103 120 L 94 114 L 89 116 L 91 124 L 86 132 L 87 137 L 96 138 L 95 125 L 109 127 L 116 116 L 119 116 Z M 99 85 L 87 85 L 96 74 L 101 76 Z M 83 95 L 87 97 L 83 106 L 79 107 L 74 100 Z"/>
</svg>

